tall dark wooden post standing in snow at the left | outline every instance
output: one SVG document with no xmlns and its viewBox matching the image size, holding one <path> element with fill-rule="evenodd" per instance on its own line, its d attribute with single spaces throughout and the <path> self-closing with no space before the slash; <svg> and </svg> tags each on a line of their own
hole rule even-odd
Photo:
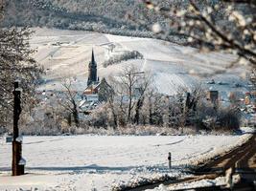
<svg viewBox="0 0 256 191">
<path fill-rule="evenodd" d="M 20 107 L 20 95 L 21 90 L 19 90 L 18 81 L 14 82 L 14 91 L 12 92 L 14 96 L 14 104 L 13 104 L 13 135 L 12 135 L 12 176 L 24 175 L 24 164 L 20 164 L 19 162 L 22 160 L 21 152 L 22 145 L 21 140 L 17 140 L 19 137 L 18 132 L 18 120 L 21 113 Z"/>
</svg>

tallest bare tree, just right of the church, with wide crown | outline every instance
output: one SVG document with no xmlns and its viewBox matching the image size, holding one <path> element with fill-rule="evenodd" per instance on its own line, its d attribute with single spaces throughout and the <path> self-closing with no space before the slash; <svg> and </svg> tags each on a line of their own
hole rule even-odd
<svg viewBox="0 0 256 191">
<path fill-rule="evenodd" d="M 113 95 L 108 98 L 108 103 L 115 121 L 118 118 L 121 125 L 127 122 L 139 123 L 140 111 L 150 84 L 151 76 L 134 66 L 124 68 L 110 79 Z"/>
</svg>

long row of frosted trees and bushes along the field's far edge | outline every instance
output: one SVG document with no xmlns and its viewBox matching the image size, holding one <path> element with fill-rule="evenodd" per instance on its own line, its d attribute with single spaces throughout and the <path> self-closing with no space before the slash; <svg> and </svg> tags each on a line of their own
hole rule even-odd
<svg viewBox="0 0 256 191">
<path fill-rule="evenodd" d="M 66 96 L 64 92 L 51 93 L 47 101 L 42 97 L 30 113 L 22 113 L 21 132 L 27 135 L 231 133 L 241 124 L 237 104 L 229 107 L 213 104 L 206 100 L 200 86 L 180 88 L 175 96 L 162 95 L 153 86 L 151 74 L 133 67 L 107 82 L 109 86 L 101 92 L 106 99 L 94 109 L 82 109 L 81 95 L 74 91 L 68 91 L 70 94 Z M 67 90 L 72 90 L 72 83 L 69 85 Z M 2 131 L 12 132 L 12 124 Z"/>
</svg>

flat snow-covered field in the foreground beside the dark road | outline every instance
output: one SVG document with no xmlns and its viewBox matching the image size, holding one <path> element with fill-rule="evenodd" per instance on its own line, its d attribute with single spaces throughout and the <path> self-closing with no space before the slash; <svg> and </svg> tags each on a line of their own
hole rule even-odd
<svg viewBox="0 0 256 191">
<path fill-rule="evenodd" d="M 25 137 L 22 177 L 11 176 L 12 144 L 0 142 L 0 190 L 111 190 L 115 186 L 169 174 L 220 154 L 244 136 Z M 168 170 L 168 153 L 173 170 Z"/>
</svg>

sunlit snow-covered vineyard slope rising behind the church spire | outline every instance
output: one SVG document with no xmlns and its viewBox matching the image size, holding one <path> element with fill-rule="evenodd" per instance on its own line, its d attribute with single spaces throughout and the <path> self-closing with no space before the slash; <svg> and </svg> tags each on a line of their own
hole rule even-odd
<svg viewBox="0 0 256 191">
<path fill-rule="evenodd" d="M 229 54 L 198 53 L 193 48 L 149 38 L 48 29 L 35 29 L 31 43 L 37 48 L 35 59 L 47 71 L 44 76 L 45 84 L 40 90 L 59 90 L 62 79 L 76 77 L 76 87 L 82 91 L 86 86 L 87 66 L 93 48 L 100 77 L 117 75 L 124 67 L 134 65 L 140 71 L 151 73 L 155 87 L 164 94 L 173 95 L 180 86 L 190 88 L 198 83 L 206 84 L 212 78 L 216 81 L 230 81 L 228 86 L 214 87 L 217 90 L 246 91 L 246 82 L 240 77 L 245 73 L 244 68 L 226 69 L 235 60 L 235 57 Z M 110 46 L 114 46 L 112 52 L 109 52 Z M 102 66 L 109 53 L 124 51 L 138 51 L 145 59 L 129 60 L 107 68 Z M 215 76 L 220 72 L 225 74 Z M 210 76 L 204 77 L 205 74 Z M 242 83 L 242 87 L 233 88 L 236 83 Z M 208 85 L 205 87 L 210 88 Z"/>
</svg>

